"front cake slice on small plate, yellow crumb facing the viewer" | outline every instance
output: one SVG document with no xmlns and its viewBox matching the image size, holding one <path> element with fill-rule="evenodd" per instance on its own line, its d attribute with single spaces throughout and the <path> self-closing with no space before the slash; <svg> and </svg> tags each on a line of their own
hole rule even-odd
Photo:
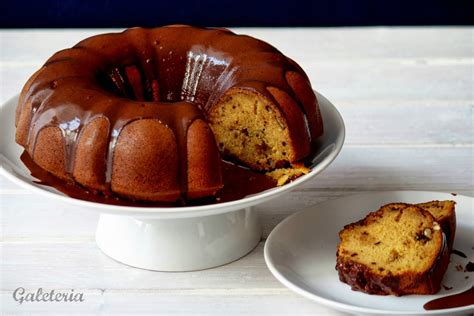
<svg viewBox="0 0 474 316">
<path fill-rule="evenodd" d="M 379 295 L 433 294 L 449 263 L 440 225 L 423 208 L 382 206 L 339 233 L 336 269 L 353 290 Z"/>
</svg>

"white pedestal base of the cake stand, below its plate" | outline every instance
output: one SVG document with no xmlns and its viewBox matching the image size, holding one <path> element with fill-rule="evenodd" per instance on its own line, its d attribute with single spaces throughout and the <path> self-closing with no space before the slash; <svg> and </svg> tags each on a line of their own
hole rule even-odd
<svg viewBox="0 0 474 316">
<path fill-rule="evenodd" d="M 101 214 L 96 232 L 97 245 L 109 257 L 157 271 L 217 267 L 249 253 L 260 237 L 258 216 L 250 207 L 172 219 Z"/>
</svg>

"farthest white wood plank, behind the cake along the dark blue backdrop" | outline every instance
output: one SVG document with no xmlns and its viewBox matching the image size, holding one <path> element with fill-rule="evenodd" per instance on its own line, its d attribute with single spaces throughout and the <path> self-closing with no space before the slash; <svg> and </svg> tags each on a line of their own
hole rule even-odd
<svg viewBox="0 0 474 316">
<path fill-rule="evenodd" d="M 2 30 L 3 61 L 42 63 L 80 40 L 122 29 Z M 472 58 L 472 27 L 234 28 L 302 59 Z"/>
</svg>

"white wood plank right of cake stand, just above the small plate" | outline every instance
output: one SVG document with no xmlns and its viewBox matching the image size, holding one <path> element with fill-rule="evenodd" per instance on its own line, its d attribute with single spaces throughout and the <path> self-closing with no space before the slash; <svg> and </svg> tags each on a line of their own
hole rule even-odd
<svg viewBox="0 0 474 316">
<path fill-rule="evenodd" d="M 299 190 L 472 190 L 473 155 L 472 147 L 347 146 L 327 171 Z"/>
</svg>

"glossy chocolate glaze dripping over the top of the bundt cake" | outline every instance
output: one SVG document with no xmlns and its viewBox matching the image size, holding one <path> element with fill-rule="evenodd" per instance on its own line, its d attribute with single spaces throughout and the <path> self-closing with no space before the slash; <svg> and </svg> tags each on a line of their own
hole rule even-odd
<svg viewBox="0 0 474 316">
<path fill-rule="evenodd" d="M 178 177 L 185 194 L 186 135 L 192 122 L 204 118 L 232 87 L 254 90 L 273 101 L 267 87 L 276 87 L 304 112 L 285 78 L 288 71 L 302 72 L 269 44 L 228 30 L 132 28 L 94 36 L 56 53 L 28 87 L 24 104 L 32 104 L 33 126 L 25 147 L 33 155 L 40 131 L 58 127 L 65 145 L 65 171 L 73 178 L 81 131 L 93 119 L 105 117 L 105 184 L 110 188 L 120 132 L 135 120 L 158 119 L 177 140 Z"/>
</svg>

